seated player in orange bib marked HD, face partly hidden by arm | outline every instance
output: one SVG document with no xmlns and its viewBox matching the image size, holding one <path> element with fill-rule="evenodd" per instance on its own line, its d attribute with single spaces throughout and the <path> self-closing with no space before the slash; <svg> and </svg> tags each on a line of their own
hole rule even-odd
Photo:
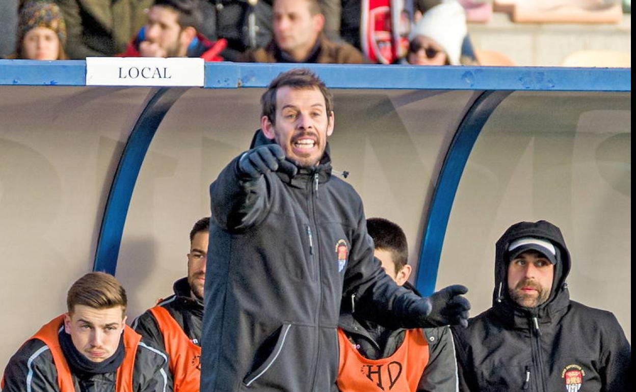
<svg viewBox="0 0 636 392">
<path fill-rule="evenodd" d="M 366 227 L 386 273 L 417 293 L 408 283 L 411 266 L 406 264 L 404 231 L 381 218 L 368 219 Z M 389 330 L 357 318 L 355 309 L 345 310 L 347 302 L 338 323 L 340 391 L 457 391 L 457 362 L 448 327 Z"/>
</svg>

